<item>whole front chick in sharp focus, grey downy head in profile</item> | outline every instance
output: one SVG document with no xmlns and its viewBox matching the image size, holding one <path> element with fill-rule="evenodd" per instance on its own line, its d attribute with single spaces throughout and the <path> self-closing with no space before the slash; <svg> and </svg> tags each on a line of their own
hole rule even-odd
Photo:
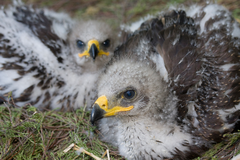
<svg viewBox="0 0 240 160">
<path fill-rule="evenodd" d="M 99 78 L 92 123 L 127 159 L 195 158 L 238 122 L 239 24 L 194 7 L 144 22 Z"/>
</svg>

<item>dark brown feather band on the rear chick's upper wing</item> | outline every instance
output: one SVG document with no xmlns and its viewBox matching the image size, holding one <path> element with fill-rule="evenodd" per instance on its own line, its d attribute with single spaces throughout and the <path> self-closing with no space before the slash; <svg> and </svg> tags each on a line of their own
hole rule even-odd
<svg viewBox="0 0 240 160">
<path fill-rule="evenodd" d="M 27 6 L 16 7 L 13 13 L 16 21 L 25 24 L 39 40 L 56 56 L 58 62 L 63 63 L 62 48 L 66 48 L 66 40 L 60 38 L 54 31 L 53 20 L 50 20 L 43 10 L 34 10 Z M 70 23 L 71 24 L 71 23 Z M 64 25 L 64 24 L 57 24 Z M 62 29 L 65 29 L 62 27 Z M 69 32 L 66 28 L 63 32 Z M 66 34 L 66 33 L 65 33 Z"/>
</svg>

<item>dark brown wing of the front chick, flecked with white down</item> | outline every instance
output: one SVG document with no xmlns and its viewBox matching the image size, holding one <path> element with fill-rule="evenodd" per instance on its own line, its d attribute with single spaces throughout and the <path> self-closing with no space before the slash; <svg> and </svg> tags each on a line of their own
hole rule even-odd
<svg viewBox="0 0 240 160">
<path fill-rule="evenodd" d="M 179 98 L 178 123 L 191 123 L 195 134 L 219 141 L 239 117 L 240 40 L 225 25 L 201 34 L 199 25 L 183 11 L 160 16 L 151 23 L 152 44 Z"/>
</svg>

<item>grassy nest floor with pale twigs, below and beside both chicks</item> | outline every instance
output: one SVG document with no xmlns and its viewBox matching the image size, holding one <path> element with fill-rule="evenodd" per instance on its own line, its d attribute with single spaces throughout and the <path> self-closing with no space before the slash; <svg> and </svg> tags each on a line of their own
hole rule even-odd
<svg viewBox="0 0 240 160">
<path fill-rule="evenodd" d="M 84 108 L 41 112 L 31 105 L 19 108 L 13 102 L 4 103 L 0 106 L 0 159 L 87 160 L 103 157 L 106 150 L 111 159 L 124 159 L 117 148 L 98 139 L 100 133 L 89 117 Z M 235 132 L 196 159 L 229 160 L 239 153 L 240 132 Z"/>
</svg>

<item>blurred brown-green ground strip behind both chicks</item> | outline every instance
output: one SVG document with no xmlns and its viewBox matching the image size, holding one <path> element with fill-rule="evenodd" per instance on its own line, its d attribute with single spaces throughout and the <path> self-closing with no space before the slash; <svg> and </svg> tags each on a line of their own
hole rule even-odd
<svg viewBox="0 0 240 160">
<path fill-rule="evenodd" d="M 206 4 L 206 0 L 22 0 L 34 7 L 63 11 L 77 19 L 100 19 L 117 28 L 119 24 L 137 21 L 147 14 L 155 14 L 171 5 Z M 213 1 L 211 1 L 213 2 Z M 240 0 L 214 1 L 228 8 L 240 22 Z M 0 0 L 7 6 L 11 0 Z"/>
</svg>

